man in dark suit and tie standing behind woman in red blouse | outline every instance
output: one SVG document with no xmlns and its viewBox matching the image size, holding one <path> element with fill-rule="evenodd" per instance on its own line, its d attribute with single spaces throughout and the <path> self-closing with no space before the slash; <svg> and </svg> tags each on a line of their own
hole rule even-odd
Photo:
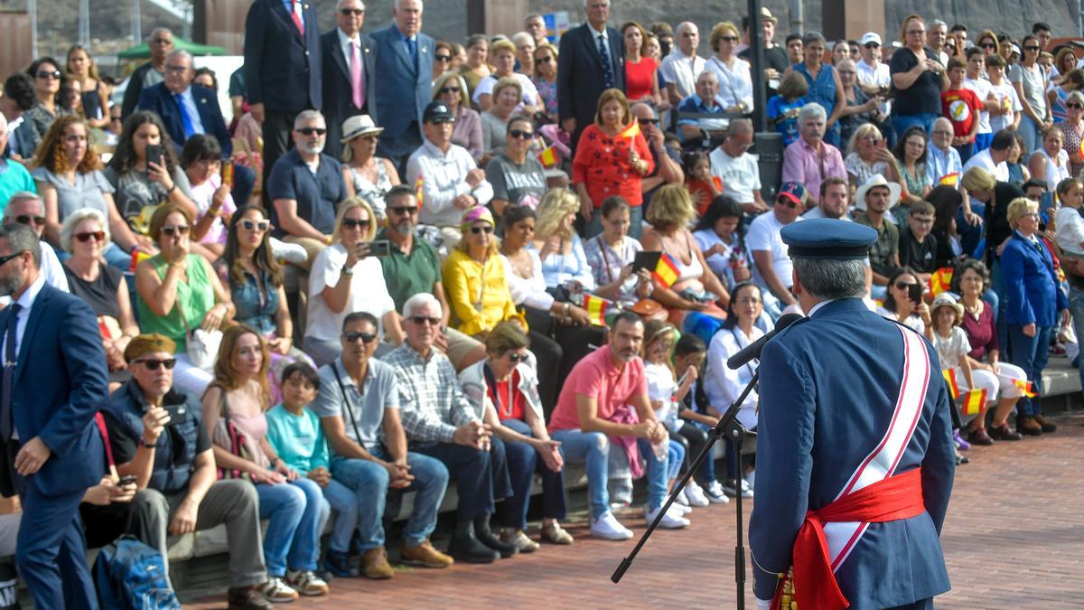
<svg viewBox="0 0 1084 610">
<path fill-rule="evenodd" d="M 572 135 L 572 150 L 583 129 L 594 123 L 598 96 L 624 91 L 624 40 L 607 27 L 609 0 L 584 0 L 588 22 L 560 37 L 557 59 L 557 114 Z"/>
</svg>

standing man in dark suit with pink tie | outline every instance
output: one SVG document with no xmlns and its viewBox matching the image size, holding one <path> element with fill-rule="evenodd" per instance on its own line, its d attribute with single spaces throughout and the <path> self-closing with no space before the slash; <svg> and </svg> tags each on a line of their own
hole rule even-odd
<svg viewBox="0 0 1084 610">
<path fill-rule="evenodd" d="M 339 157 L 343 148 L 343 122 L 367 114 L 379 118 L 376 104 L 369 103 L 376 91 L 376 43 L 361 34 L 365 4 L 361 0 L 339 0 L 334 30 L 320 37 L 320 62 L 324 68 L 324 118 L 327 119 L 327 145 L 324 152 Z"/>
</svg>

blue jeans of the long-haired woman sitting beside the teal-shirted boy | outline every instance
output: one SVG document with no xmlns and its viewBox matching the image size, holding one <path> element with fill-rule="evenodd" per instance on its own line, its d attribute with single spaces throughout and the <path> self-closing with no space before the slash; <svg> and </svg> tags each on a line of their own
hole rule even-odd
<svg viewBox="0 0 1084 610">
<path fill-rule="evenodd" d="M 278 485 L 256 485 L 260 519 L 268 519 L 263 560 L 268 576 L 282 577 L 291 570 L 315 570 L 320 559 L 320 525 L 331 510 L 320 485 L 298 478 Z"/>
</svg>

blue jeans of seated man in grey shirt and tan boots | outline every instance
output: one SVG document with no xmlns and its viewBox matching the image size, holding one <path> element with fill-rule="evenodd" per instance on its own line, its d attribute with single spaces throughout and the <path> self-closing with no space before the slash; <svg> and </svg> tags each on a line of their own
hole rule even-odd
<svg viewBox="0 0 1084 610">
<path fill-rule="evenodd" d="M 387 459 L 385 455 L 376 455 Z M 448 490 L 448 469 L 440 460 L 421 454 L 406 454 L 406 463 L 414 475 L 406 491 L 416 491 L 414 510 L 403 531 L 409 547 L 424 543 L 437 526 L 437 511 Z M 387 506 L 388 471 L 375 461 L 335 458 L 332 476 L 354 494 L 358 506 L 359 548 L 362 551 L 384 546 L 384 509 Z"/>
</svg>

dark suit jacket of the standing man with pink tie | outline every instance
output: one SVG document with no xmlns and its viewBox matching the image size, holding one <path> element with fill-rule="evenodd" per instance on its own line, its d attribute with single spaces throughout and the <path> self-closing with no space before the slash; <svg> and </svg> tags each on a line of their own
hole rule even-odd
<svg viewBox="0 0 1084 610">
<path fill-rule="evenodd" d="M 364 34 L 358 35 L 361 45 L 362 69 L 365 76 L 365 113 L 379 125 L 374 99 L 376 96 L 376 42 Z M 353 105 L 353 89 L 350 87 L 350 66 L 339 47 L 338 28 L 320 37 L 320 62 L 323 66 L 324 117 L 327 119 L 327 144 L 324 152 L 338 158 L 343 143 L 343 122 L 362 114 Z M 430 72 L 431 74 L 431 72 Z"/>
</svg>

